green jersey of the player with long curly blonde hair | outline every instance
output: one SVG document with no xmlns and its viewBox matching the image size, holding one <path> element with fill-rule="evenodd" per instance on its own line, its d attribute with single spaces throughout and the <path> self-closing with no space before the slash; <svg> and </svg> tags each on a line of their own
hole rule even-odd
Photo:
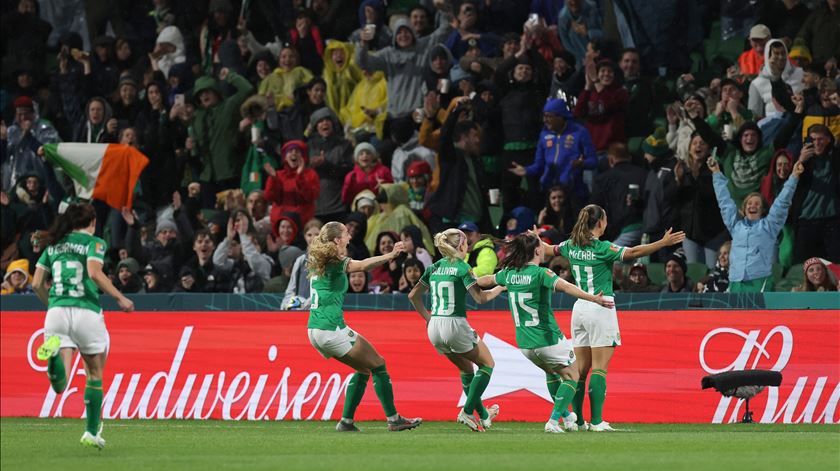
<svg viewBox="0 0 840 471">
<path fill-rule="evenodd" d="M 347 292 L 347 264 L 349 258 L 333 262 L 324 269 L 321 276 L 310 278 L 311 303 L 309 305 L 310 329 L 335 330 L 345 328 L 344 293 Z"/>
</svg>

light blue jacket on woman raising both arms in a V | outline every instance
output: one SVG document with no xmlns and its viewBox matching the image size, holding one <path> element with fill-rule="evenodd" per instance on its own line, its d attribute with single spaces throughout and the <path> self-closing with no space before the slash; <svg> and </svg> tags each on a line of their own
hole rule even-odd
<svg viewBox="0 0 840 471">
<path fill-rule="evenodd" d="M 750 281 L 770 276 L 773 273 L 776 238 L 785 225 L 799 179 L 793 175 L 788 178 L 782 192 L 770 207 L 770 212 L 758 221 L 749 221 L 738 215 L 738 208 L 729 195 L 727 180 L 722 172 L 716 172 L 712 181 L 720 206 L 720 215 L 732 235 L 729 281 Z"/>
</svg>

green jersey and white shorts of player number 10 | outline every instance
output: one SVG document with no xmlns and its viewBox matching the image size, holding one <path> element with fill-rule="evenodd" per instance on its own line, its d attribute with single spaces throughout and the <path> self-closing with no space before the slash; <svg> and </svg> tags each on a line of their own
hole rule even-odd
<svg viewBox="0 0 840 471">
<path fill-rule="evenodd" d="M 420 283 L 431 291 L 432 318 L 426 333 L 438 353 L 466 353 L 475 348 L 479 339 L 467 322 L 466 297 L 476 278 L 467 262 L 438 260 L 426 268 Z"/>
</svg>

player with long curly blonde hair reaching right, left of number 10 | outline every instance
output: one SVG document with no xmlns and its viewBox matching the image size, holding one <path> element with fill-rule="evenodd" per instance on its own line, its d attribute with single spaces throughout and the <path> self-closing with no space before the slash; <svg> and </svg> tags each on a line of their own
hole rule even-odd
<svg viewBox="0 0 840 471">
<path fill-rule="evenodd" d="M 402 242 L 394 249 L 377 257 L 351 260 L 347 257 L 350 234 L 340 222 L 328 222 L 318 237 L 309 244 L 306 267 L 312 283 L 309 307 L 309 342 L 324 358 L 336 360 L 356 370 L 347 384 L 344 411 L 335 429 L 339 432 L 358 432 L 353 423 L 356 407 L 362 401 L 368 379 L 373 375 L 373 388 L 388 417 L 388 430 L 398 432 L 419 426 L 423 419 L 406 419 L 394 407 L 394 390 L 391 377 L 385 369 L 385 359 L 364 337 L 344 323 L 344 295 L 347 293 L 347 273 L 368 271 L 396 258 L 402 251 Z"/>
</svg>

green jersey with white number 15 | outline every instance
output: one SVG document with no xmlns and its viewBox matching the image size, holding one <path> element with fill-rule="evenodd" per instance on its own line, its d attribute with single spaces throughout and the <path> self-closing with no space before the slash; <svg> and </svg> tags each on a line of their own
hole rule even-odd
<svg viewBox="0 0 840 471">
<path fill-rule="evenodd" d="M 500 270 L 495 278 L 496 284 L 507 286 L 519 348 L 548 347 L 565 338 L 551 310 L 554 284 L 560 278 L 556 273 L 529 264 Z"/>
</svg>

